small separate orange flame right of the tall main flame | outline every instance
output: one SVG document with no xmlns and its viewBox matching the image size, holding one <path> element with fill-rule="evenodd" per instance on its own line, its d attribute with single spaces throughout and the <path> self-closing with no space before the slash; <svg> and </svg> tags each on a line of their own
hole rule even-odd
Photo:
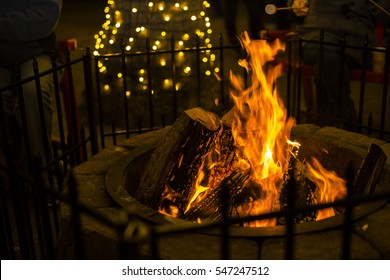
<svg viewBox="0 0 390 280">
<path fill-rule="evenodd" d="M 344 179 L 337 176 L 336 172 L 326 170 L 316 159 L 312 164 L 307 163 L 309 179 L 317 185 L 318 203 L 334 202 L 336 199 L 343 199 L 347 195 L 347 187 Z M 318 211 L 317 221 L 335 215 L 333 207 Z"/>
</svg>

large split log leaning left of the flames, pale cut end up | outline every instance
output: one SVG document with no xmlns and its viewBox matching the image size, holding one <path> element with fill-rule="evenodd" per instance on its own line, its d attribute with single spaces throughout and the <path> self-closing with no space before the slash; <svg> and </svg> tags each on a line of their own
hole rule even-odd
<svg viewBox="0 0 390 280">
<path fill-rule="evenodd" d="M 165 189 L 170 191 L 176 207 L 185 207 L 192 183 L 219 129 L 216 115 L 201 108 L 185 111 L 153 152 L 135 197 L 158 208 Z"/>
</svg>

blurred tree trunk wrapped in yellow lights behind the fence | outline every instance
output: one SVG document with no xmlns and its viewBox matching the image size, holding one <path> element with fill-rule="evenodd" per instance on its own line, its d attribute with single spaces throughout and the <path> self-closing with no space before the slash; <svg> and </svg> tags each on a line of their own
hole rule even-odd
<svg viewBox="0 0 390 280">
<path fill-rule="evenodd" d="M 99 60 L 103 98 L 122 104 L 125 96 L 128 104 L 137 104 L 129 114 L 142 120 L 151 118 L 145 111 L 153 100 L 155 123 L 161 116 L 173 123 L 177 112 L 172 108 L 176 106 L 179 111 L 198 105 L 210 109 L 215 99 L 210 84 L 217 88 L 214 73 L 219 69 L 215 55 L 204 50 L 212 47 L 209 6 L 203 0 L 108 0 L 106 21 L 95 35 L 94 55 L 116 53 L 126 57 L 125 63 L 120 57 Z M 199 55 L 185 51 L 197 45 Z M 172 49 L 183 51 L 173 53 Z M 200 96 L 202 88 L 208 89 L 205 95 L 209 104 L 199 104 L 205 100 Z"/>
</svg>

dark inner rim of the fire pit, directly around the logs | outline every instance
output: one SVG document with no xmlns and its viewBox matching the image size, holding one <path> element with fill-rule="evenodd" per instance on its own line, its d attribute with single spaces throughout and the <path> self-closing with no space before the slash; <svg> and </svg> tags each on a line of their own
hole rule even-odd
<svg viewBox="0 0 390 280">
<path fill-rule="evenodd" d="M 297 137 L 297 139 L 302 144 L 299 157 L 316 156 L 325 167 L 331 167 L 339 176 L 345 174 L 346 168 L 350 166 L 350 163 L 356 174 L 367 155 L 367 151 L 360 147 L 353 145 L 336 145 L 326 142 L 319 137 L 305 136 Z M 134 198 L 134 194 L 137 191 L 144 170 L 148 164 L 148 160 L 158 143 L 159 137 L 155 137 L 152 141 L 146 142 L 140 148 L 133 149 L 130 155 L 118 159 L 118 161 L 108 170 L 106 189 L 115 202 L 145 221 L 157 224 L 193 224 L 194 222 L 191 221 L 163 215 L 156 209 L 151 209 Z M 385 166 L 374 192 L 386 188 L 385 182 L 390 179 L 389 173 L 389 168 Z M 385 200 L 377 200 L 355 206 L 353 210 L 353 220 L 360 219 L 376 211 L 383 206 L 385 202 Z M 344 215 L 337 214 L 321 221 L 295 224 L 295 233 L 300 234 L 321 231 L 340 226 L 343 223 Z M 213 235 L 220 234 L 219 229 L 199 229 L 199 231 Z M 232 226 L 229 229 L 229 234 L 230 236 L 235 237 L 283 236 L 286 234 L 286 227 L 283 225 L 261 228 Z"/>
</svg>

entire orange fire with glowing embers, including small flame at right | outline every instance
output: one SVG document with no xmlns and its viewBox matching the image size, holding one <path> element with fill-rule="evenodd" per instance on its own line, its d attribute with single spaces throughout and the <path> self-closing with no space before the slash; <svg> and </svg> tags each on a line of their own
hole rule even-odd
<svg viewBox="0 0 390 280">
<path fill-rule="evenodd" d="M 167 183 L 160 207 L 163 213 L 200 221 L 200 217 L 193 216 L 197 213 L 197 207 L 212 196 L 218 199 L 215 193 L 221 187 L 228 188 L 234 194 L 234 205 L 230 205 L 231 216 L 253 216 L 281 208 L 281 189 L 290 158 L 296 156 L 300 147 L 298 142 L 290 140 L 295 120 L 287 117 L 275 86 L 281 66 L 268 63 L 284 50 L 284 45 L 278 40 L 272 45 L 265 40 L 250 40 L 246 33 L 241 43 L 248 56 L 240 60 L 239 64 L 249 74 L 249 86 L 245 86 L 242 77 L 231 73 L 234 107 L 224 117 L 216 140 L 204 155 L 189 193 L 177 194 Z M 230 139 L 233 146 L 230 150 L 230 142 L 226 139 Z M 334 172 L 325 170 L 318 160 L 313 159 L 312 162 L 307 164 L 306 169 L 308 179 L 317 186 L 315 202 L 343 198 L 346 194 L 345 181 Z M 213 204 L 208 201 L 204 205 L 206 207 L 202 206 L 202 209 L 210 208 Z M 217 211 L 207 209 L 211 214 Z M 318 213 L 317 220 L 332 215 L 333 209 L 325 209 Z M 250 222 L 244 226 L 265 227 L 276 224 L 275 218 Z"/>
</svg>

